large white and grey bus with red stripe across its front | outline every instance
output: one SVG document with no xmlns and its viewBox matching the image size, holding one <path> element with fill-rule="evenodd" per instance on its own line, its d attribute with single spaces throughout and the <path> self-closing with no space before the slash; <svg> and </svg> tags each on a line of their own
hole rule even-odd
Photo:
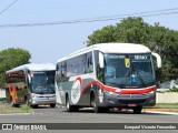
<svg viewBox="0 0 178 133">
<path fill-rule="evenodd" d="M 56 66 L 57 103 L 68 112 L 93 108 L 96 113 L 110 109 L 131 109 L 156 104 L 156 73 L 152 57 L 161 68 L 159 54 L 134 43 L 95 44 L 62 59 Z"/>
</svg>

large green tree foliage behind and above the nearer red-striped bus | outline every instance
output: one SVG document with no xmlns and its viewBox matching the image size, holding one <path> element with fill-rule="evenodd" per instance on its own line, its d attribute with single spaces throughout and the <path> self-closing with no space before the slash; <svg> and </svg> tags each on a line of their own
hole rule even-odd
<svg viewBox="0 0 178 133">
<path fill-rule="evenodd" d="M 87 47 L 105 42 L 128 42 L 147 45 L 162 59 L 162 69 L 157 71 L 160 81 L 178 78 L 178 31 L 142 18 L 127 18 L 116 25 L 107 25 L 88 37 Z"/>
</svg>

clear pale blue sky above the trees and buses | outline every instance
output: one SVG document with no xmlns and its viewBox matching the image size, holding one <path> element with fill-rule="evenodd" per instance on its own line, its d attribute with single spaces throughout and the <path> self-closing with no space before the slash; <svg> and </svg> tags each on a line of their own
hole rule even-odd
<svg viewBox="0 0 178 133">
<path fill-rule="evenodd" d="M 93 31 L 115 25 L 129 17 L 126 14 L 167 10 L 167 16 L 147 16 L 144 21 L 178 30 L 178 13 L 170 13 L 178 12 L 178 0 L 17 0 L 10 6 L 12 2 L 14 0 L 0 0 L 0 51 L 8 48 L 28 50 L 30 62 L 34 63 L 56 64 L 60 58 L 86 48 L 88 35 Z M 118 19 L 63 23 L 115 16 Z M 58 24 L 4 27 L 52 22 Z"/>
</svg>

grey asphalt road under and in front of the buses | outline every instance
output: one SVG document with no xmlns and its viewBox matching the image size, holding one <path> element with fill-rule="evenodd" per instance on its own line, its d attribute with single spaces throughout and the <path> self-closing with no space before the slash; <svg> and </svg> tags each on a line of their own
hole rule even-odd
<svg viewBox="0 0 178 133">
<path fill-rule="evenodd" d="M 159 123 L 160 124 L 160 123 L 178 123 L 178 115 L 147 113 L 147 112 L 142 112 L 141 114 L 132 114 L 132 112 L 130 111 L 121 111 L 121 112 L 112 111 L 110 113 L 97 114 L 93 113 L 91 109 L 85 109 L 77 113 L 68 113 L 63 108 L 51 109 L 48 106 L 40 106 L 39 109 L 34 109 L 33 114 L 0 115 L 0 123 L 128 123 L 128 124 Z M 99 131 L 96 132 L 99 133 Z M 156 131 L 156 133 L 158 131 Z"/>
</svg>

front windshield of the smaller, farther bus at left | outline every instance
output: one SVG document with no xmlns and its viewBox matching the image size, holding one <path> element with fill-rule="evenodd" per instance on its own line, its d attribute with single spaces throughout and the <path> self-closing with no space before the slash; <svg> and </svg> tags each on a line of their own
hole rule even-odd
<svg viewBox="0 0 178 133">
<path fill-rule="evenodd" d="M 31 75 L 31 92 L 55 94 L 55 71 L 36 71 Z"/>
</svg>

